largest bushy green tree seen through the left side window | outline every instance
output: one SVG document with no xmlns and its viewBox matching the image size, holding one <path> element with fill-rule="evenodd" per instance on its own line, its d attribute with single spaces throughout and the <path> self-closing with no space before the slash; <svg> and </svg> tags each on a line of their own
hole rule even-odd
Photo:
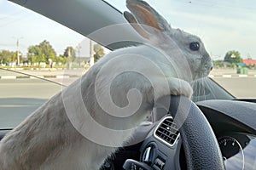
<svg viewBox="0 0 256 170">
<path fill-rule="evenodd" d="M 49 59 L 55 61 L 55 49 L 52 48 L 49 42 L 44 40 L 44 42 L 28 48 L 27 59 L 32 63 L 48 62 Z"/>
</svg>

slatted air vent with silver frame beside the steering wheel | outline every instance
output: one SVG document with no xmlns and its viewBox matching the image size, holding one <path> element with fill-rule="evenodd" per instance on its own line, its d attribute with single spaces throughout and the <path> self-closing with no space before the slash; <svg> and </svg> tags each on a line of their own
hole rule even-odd
<svg viewBox="0 0 256 170">
<path fill-rule="evenodd" d="M 173 122 L 172 116 L 166 116 L 154 131 L 154 137 L 165 144 L 173 146 L 178 137 L 177 125 Z"/>
</svg>

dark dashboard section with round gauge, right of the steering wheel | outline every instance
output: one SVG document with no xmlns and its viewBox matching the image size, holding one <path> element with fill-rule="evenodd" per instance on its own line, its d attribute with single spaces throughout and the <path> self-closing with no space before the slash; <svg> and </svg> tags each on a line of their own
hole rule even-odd
<svg viewBox="0 0 256 170">
<path fill-rule="evenodd" d="M 218 139 L 226 169 L 255 169 L 255 100 L 208 100 L 197 105 Z"/>
</svg>

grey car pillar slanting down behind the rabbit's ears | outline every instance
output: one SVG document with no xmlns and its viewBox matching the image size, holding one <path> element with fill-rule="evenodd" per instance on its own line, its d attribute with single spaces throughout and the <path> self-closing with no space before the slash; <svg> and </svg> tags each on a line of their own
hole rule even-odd
<svg viewBox="0 0 256 170">
<path fill-rule="evenodd" d="M 9 1 L 55 20 L 112 50 L 143 41 L 131 26 L 127 25 L 123 14 L 102 0 Z M 98 31 L 109 26 L 114 26 L 115 31 L 109 32 L 109 29 Z"/>
</svg>

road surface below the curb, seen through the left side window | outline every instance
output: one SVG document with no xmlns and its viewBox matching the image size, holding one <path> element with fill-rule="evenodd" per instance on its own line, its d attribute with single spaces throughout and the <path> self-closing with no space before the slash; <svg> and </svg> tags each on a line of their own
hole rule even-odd
<svg viewBox="0 0 256 170">
<path fill-rule="evenodd" d="M 61 89 L 37 79 L 0 79 L 0 128 L 15 127 Z"/>
</svg>

